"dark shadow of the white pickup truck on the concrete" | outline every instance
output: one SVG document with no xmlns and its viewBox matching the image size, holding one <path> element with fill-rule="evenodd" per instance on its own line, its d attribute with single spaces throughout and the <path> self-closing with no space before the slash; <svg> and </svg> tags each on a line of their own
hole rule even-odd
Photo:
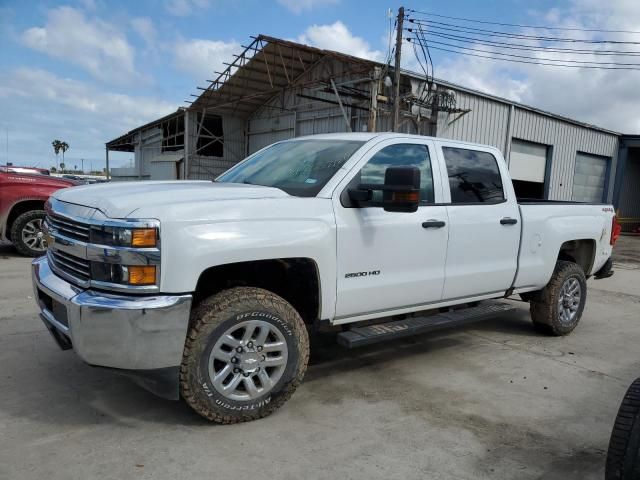
<svg viewBox="0 0 640 480">
<path fill-rule="evenodd" d="M 452 328 L 348 350 L 336 344 L 335 333 L 314 334 L 311 338 L 311 359 L 303 385 L 331 377 L 339 378 L 359 369 L 380 371 L 385 365 L 412 356 L 437 357 L 450 348 L 473 341 L 466 330 L 499 331 L 508 335 L 537 336 L 530 327 L 518 321 L 511 312 L 485 324 Z M 44 339 L 43 339 L 44 340 Z M 37 403 L 9 401 L 0 407 L 11 417 L 27 417 L 56 425 L 111 424 L 135 428 L 142 423 L 210 427 L 211 424 L 194 413 L 184 402 L 165 400 L 135 385 L 114 372 L 92 368 L 70 352 L 51 350 L 33 365 L 35 382 L 10 381 L 5 388 L 11 398 L 47 397 L 46 412 Z"/>
</svg>

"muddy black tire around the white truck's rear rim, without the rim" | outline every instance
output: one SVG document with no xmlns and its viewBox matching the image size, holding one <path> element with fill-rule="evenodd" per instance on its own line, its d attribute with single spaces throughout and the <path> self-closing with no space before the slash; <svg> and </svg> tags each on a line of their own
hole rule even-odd
<svg viewBox="0 0 640 480">
<path fill-rule="evenodd" d="M 558 300 L 560 299 L 561 289 L 564 282 L 571 277 L 575 278 L 580 283 L 581 298 L 575 318 L 570 324 L 567 324 L 560 321 Z M 547 335 L 567 335 L 578 325 L 578 322 L 582 317 L 582 312 L 584 311 L 586 300 L 587 279 L 582 268 L 576 263 L 558 260 L 549 283 L 547 283 L 546 287 L 531 298 L 530 312 L 533 326 L 539 332 Z"/>
</svg>

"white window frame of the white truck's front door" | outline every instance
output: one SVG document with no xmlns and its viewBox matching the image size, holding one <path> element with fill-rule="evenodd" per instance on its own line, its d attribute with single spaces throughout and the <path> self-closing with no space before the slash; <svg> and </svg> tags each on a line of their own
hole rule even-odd
<svg viewBox="0 0 640 480">
<path fill-rule="evenodd" d="M 393 139 L 381 140 L 377 143 L 374 143 L 370 146 L 370 148 L 364 152 L 362 152 L 361 157 L 352 165 L 345 165 L 346 168 L 350 168 L 347 175 L 343 177 L 343 179 L 337 184 L 336 187 L 333 188 L 333 198 L 340 203 L 343 208 L 376 208 L 382 209 L 382 206 L 379 205 L 363 205 L 358 206 L 353 204 L 351 199 L 349 198 L 349 189 L 354 188 L 358 182 L 358 173 L 362 168 L 373 158 L 378 152 L 383 150 L 386 147 L 392 145 L 423 145 L 427 148 L 427 152 L 429 154 L 429 161 L 431 162 L 431 181 L 433 183 L 433 193 L 434 193 L 434 202 L 428 204 L 420 204 L 418 209 L 428 208 L 435 205 L 442 205 L 444 201 L 444 190 L 442 186 L 442 173 L 440 171 L 441 162 L 438 158 L 438 154 L 435 148 L 435 144 L 432 140 L 420 139 L 416 137 L 398 137 Z M 322 192 L 321 192 L 322 194 Z M 322 196 L 322 195 L 319 195 Z M 396 215 L 398 213 L 402 215 L 406 215 L 403 212 L 385 212 L 389 215 Z"/>
</svg>

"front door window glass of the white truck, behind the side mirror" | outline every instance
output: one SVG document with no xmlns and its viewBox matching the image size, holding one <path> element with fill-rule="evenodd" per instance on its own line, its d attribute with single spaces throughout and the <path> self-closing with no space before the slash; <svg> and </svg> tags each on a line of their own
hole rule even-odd
<svg viewBox="0 0 640 480">
<path fill-rule="evenodd" d="M 434 202 L 431 159 L 426 145 L 398 144 L 383 148 L 360 170 L 359 183 L 384 184 L 387 167 L 416 166 L 420 169 L 420 204 Z M 382 202 L 382 192 L 373 192 L 373 202 Z"/>
</svg>

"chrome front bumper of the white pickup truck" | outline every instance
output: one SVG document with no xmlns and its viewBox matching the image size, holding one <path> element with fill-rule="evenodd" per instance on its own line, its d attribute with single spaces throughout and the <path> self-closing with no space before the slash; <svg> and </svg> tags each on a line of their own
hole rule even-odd
<svg viewBox="0 0 640 480">
<path fill-rule="evenodd" d="M 46 257 L 32 264 L 40 317 L 64 349 L 93 366 L 123 371 L 177 399 L 191 295 L 133 296 L 85 290 L 55 275 Z"/>
</svg>

